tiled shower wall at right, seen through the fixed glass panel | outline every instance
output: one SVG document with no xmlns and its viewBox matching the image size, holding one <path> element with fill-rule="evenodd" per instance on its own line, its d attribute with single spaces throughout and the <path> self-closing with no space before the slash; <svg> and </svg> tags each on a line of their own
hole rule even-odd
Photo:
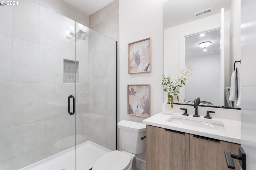
<svg viewBox="0 0 256 170">
<path fill-rule="evenodd" d="M 116 41 L 90 32 L 89 49 L 89 112 L 100 117 L 89 140 L 116 150 Z"/>
</svg>

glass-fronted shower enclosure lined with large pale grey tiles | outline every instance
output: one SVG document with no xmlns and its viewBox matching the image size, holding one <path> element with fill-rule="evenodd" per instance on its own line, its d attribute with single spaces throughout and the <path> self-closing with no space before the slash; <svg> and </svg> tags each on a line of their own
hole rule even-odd
<svg viewBox="0 0 256 170">
<path fill-rule="evenodd" d="M 48 169 L 79 170 L 85 142 L 116 150 L 116 41 L 32 0 L 0 21 L 0 170 L 66 150 L 69 167 Z"/>
</svg>

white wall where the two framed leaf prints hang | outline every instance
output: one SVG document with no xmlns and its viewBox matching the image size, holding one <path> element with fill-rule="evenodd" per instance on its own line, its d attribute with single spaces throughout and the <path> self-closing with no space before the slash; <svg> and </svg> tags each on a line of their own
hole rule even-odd
<svg viewBox="0 0 256 170">
<path fill-rule="evenodd" d="M 163 88 L 162 0 L 119 0 L 120 120 L 142 123 L 144 118 L 127 115 L 127 85 L 151 85 L 151 115 L 161 112 Z M 151 38 L 152 72 L 128 74 L 128 43 Z"/>
</svg>

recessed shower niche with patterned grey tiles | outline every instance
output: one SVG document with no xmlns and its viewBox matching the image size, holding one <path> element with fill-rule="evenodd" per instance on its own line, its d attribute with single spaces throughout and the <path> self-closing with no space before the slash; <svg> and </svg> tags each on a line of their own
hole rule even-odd
<svg viewBox="0 0 256 170">
<path fill-rule="evenodd" d="M 72 61 L 68 59 L 64 59 L 64 75 L 63 75 L 63 83 L 78 83 L 79 77 L 79 62 Z M 77 79 L 76 79 L 77 74 Z"/>
</svg>

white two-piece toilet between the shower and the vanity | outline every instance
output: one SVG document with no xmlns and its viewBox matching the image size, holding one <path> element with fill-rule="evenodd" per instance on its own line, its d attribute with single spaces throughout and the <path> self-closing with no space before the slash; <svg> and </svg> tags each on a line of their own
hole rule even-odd
<svg viewBox="0 0 256 170">
<path fill-rule="evenodd" d="M 131 121 L 118 124 L 122 138 L 122 151 L 114 150 L 100 157 L 92 170 L 136 170 L 136 154 L 145 152 L 146 125 Z"/>
</svg>

